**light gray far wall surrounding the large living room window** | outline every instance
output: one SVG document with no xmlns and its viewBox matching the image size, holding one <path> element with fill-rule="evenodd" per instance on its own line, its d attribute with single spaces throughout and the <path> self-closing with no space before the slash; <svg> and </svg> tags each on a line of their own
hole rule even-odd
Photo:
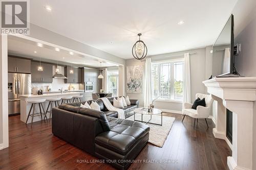
<svg viewBox="0 0 256 170">
<path fill-rule="evenodd" d="M 176 52 L 176 53 L 148 56 L 148 58 L 151 58 L 152 62 L 154 62 L 154 61 L 161 61 L 161 60 L 164 61 L 169 59 L 183 58 L 184 53 L 194 53 L 194 52 L 196 52 L 196 54 L 190 55 L 191 102 L 195 100 L 196 93 L 205 93 L 205 86 L 202 83 L 202 81 L 206 80 L 205 79 L 206 48 L 203 47 L 203 48 L 197 48 L 193 50 L 187 50 L 187 51 Z M 138 61 L 136 59 L 126 60 L 126 66 L 132 66 L 132 65 L 144 65 L 144 62 Z M 143 106 L 144 99 L 143 99 L 142 93 L 141 94 L 127 93 L 127 95 L 129 95 L 131 99 L 139 99 L 140 105 Z M 155 102 L 155 106 L 161 109 L 174 110 L 179 112 L 181 112 L 182 110 L 181 102 L 162 102 L 161 101 L 161 102 Z"/>
</svg>

